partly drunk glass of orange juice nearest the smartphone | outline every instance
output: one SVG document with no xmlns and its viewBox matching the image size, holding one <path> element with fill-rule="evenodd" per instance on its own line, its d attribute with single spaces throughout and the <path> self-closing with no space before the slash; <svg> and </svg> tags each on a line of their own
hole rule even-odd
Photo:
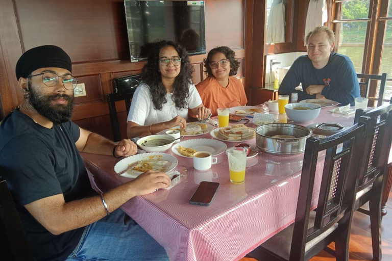
<svg viewBox="0 0 392 261">
<path fill-rule="evenodd" d="M 242 184 L 245 181 L 247 150 L 241 147 L 232 147 L 227 150 L 227 155 L 229 159 L 230 181 L 233 184 Z"/>
</svg>

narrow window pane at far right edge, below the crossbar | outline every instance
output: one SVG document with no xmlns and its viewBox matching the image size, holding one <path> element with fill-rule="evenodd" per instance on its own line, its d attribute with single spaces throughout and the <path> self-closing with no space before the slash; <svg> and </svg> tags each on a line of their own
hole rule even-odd
<svg viewBox="0 0 392 261">
<path fill-rule="evenodd" d="M 389 3 L 390 4 L 390 3 Z M 389 9 L 390 10 L 390 9 Z M 384 45 L 382 49 L 380 74 L 388 73 L 388 78 L 392 78 L 392 21 L 386 22 Z M 385 99 L 392 96 L 392 82 L 388 81 L 385 87 Z"/>
</svg>

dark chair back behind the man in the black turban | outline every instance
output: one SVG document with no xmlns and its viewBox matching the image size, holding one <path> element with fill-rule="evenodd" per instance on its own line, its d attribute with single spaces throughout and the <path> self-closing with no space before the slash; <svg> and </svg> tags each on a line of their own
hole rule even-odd
<svg viewBox="0 0 392 261">
<path fill-rule="evenodd" d="M 34 260 L 7 182 L 0 177 L 0 256 L 3 260 Z"/>
</svg>

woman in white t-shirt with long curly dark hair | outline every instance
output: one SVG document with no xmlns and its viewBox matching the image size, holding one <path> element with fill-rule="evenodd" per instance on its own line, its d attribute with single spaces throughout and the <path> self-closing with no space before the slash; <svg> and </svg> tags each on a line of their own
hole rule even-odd
<svg viewBox="0 0 392 261">
<path fill-rule="evenodd" d="M 186 127 L 188 108 L 199 119 L 210 112 L 192 84 L 192 67 L 186 50 L 173 41 L 159 41 L 141 71 L 143 80 L 132 98 L 128 138 L 156 134 L 179 125 Z"/>
</svg>

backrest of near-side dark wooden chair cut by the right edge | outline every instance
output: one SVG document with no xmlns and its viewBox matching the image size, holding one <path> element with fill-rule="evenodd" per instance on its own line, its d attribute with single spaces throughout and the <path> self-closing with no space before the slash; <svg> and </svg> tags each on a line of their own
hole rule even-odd
<svg viewBox="0 0 392 261">
<path fill-rule="evenodd" d="M 364 165 L 364 171 L 359 176 L 358 191 L 372 185 L 377 177 L 376 175 L 382 174 L 386 167 L 392 136 L 391 111 L 392 104 L 380 106 L 369 111 L 359 109 L 355 112 L 354 123 L 357 123 L 361 116 L 367 116 L 371 119 L 363 142 L 364 149 L 362 151 L 365 155 L 361 164 Z"/>
</svg>

